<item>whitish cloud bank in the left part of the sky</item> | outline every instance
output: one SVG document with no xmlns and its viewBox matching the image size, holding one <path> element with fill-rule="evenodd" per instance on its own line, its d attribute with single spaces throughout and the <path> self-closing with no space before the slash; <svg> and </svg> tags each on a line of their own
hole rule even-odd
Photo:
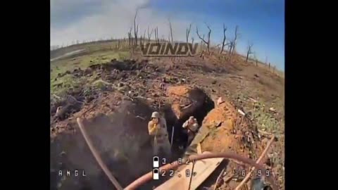
<svg viewBox="0 0 338 190">
<path fill-rule="evenodd" d="M 97 0 L 95 0 L 97 2 Z M 82 8 L 85 4 L 93 3 L 94 0 L 55 0 L 51 1 L 51 13 L 58 16 Z M 149 27 L 158 27 L 158 36 L 168 39 L 169 25 L 168 15 L 160 13 L 154 8 L 149 8 L 149 0 L 115 0 L 100 2 L 101 8 L 97 13 L 82 17 L 80 20 L 70 23 L 66 27 L 54 27 L 51 25 L 51 45 L 70 44 L 75 40 L 91 40 L 110 37 L 127 37 L 127 32 L 133 26 L 134 14 L 137 14 L 139 23 L 139 34 L 144 34 L 144 30 Z M 77 10 L 78 11 L 78 10 Z M 170 18 L 173 25 L 174 39 L 184 40 L 185 30 L 189 25 L 189 20 L 177 20 Z M 194 27 L 192 27 L 193 32 Z M 153 36 L 154 37 L 154 32 Z M 195 38 L 196 39 L 196 38 Z"/>
</svg>

